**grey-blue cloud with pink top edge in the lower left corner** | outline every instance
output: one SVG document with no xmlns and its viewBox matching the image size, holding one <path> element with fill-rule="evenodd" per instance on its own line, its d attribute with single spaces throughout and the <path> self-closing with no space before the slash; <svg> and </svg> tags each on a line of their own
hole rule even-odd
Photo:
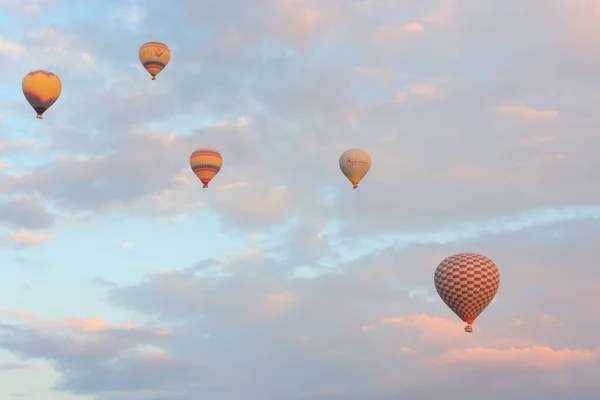
<svg viewBox="0 0 600 400">
<path fill-rule="evenodd" d="M 99 318 L 68 318 L 60 322 L 32 321 L 27 326 L 1 325 L 0 345 L 25 357 L 54 360 L 63 379 L 71 383 L 101 385 L 95 378 L 101 375 L 110 379 L 113 386 L 127 390 L 147 387 L 161 370 L 186 367 L 168 355 L 148 356 L 144 346 L 159 345 L 170 334 L 169 330 L 153 330 L 128 322 L 113 327 Z M 141 382 L 122 372 L 119 377 L 117 371 L 122 368 L 144 371 L 148 380 Z M 64 384 L 58 382 L 56 388 L 60 390 Z"/>
</svg>

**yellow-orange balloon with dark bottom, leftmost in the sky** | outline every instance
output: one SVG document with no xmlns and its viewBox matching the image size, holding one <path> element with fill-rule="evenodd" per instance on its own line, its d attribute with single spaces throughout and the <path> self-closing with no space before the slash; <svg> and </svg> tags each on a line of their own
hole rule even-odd
<svg viewBox="0 0 600 400">
<path fill-rule="evenodd" d="M 62 83 L 58 76 L 49 71 L 32 71 L 25 75 L 23 94 L 37 113 L 36 118 L 42 119 L 42 114 L 58 100 L 62 91 Z"/>
</svg>

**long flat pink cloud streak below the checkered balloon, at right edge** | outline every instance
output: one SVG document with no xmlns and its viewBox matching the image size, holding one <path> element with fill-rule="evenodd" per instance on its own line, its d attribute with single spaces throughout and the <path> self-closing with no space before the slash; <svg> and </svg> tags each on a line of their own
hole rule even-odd
<svg viewBox="0 0 600 400">
<path fill-rule="evenodd" d="M 563 349 L 532 346 L 525 348 L 511 347 L 508 350 L 478 347 L 466 350 L 452 350 L 430 362 L 440 365 L 478 365 L 486 367 L 511 367 L 525 369 L 560 369 L 576 364 L 592 364 L 596 362 L 600 349 Z"/>
</svg>

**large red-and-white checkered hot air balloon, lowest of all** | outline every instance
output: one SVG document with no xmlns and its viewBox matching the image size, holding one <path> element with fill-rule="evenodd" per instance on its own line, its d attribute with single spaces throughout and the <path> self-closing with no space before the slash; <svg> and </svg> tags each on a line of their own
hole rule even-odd
<svg viewBox="0 0 600 400">
<path fill-rule="evenodd" d="M 467 323 L 465 332 L 470 333 L 473 321 L 498 292 L 500 273 L 489 258 L 461 253 L 444 259 L 436 268 L 433 280 L 444 303 Z"/>
</svg>

